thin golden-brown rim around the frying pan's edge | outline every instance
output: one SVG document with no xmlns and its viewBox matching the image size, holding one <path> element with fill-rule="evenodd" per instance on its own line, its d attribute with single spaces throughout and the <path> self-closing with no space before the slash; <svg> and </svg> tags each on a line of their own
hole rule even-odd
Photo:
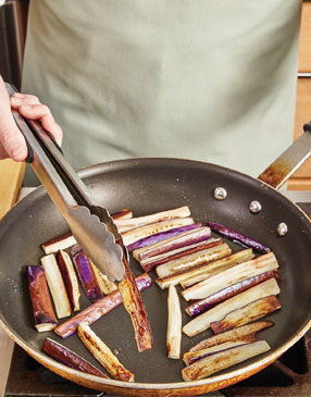
<svg viewBox="0 0 311 397">
<path fill-rule="evenodd" d="M 136 166 L 136 165 L 141 165 L 144 163 L 148 164 L 151 162 L 154 165 L 154 163 L 157 164 L 157 162 L 159 162 L 159 164 L 160 164 L 163 161 L 165 161 L 165 162 L 171 161 L 172 163 L 177 163 L 177 162 L 178 163 L 191 163 L 194 165 L 196 165 L 196 164 L 198 164 L 198 165 L 204 164 L 204 165 L 209 165 L 209 166 L 212 165 L 212 166 L 215 166 L 216 169 L 223 169 L 225 171 L 228 171 L 229 173 L 240 174 L 244 177 L 250 178 L 254 183 L 261 184 L 262 186 L 266 186 L 266 188 L 271 188 L 271 189 L 275 190 L 277 193 L 277 195 L 281 195 L 281 197 L 283 197 L 285 200 L 287 200 L 291 206 L 294 204 L 303 214 L 303 216 L 306 216 L 306 219 L 311 223 L 310 216 L 308 216 L 306 214 L 306 212 L 299 206 L 297 206 L 295 202 L 293 202 L 289 198 L 284 196 L 282 193 L 279 193 L 274 187 L 272 187 L 269 184 L 266 184 L 260 179 L 257 179 L 250 175 L 241 173 L 239 171 L 228 169 L 228 168 L 225 168 L 222 165 L 213 164 L 213 163 L 207 163 L 207 162 L 202 162 L 202 161 L 194 161 L 194 160 L 187 160 L 187 159 L 177 159 L 177 158 L 135 158 L 135 159 L 114 160 L 114 161 L 110 161 L 110 162 L 103 162 L 103 163 L 89 165 L 87 168 L 80 169 L 78 171 L 78 175 L 83 178 L 87 178 L 90 176 L 98 175 L 100 172 L 102 172 L 102 170 L 109 171 L 109 169 L 114 169 L 114 171 L 115 171 L 116 170 L 115 165 L 117 165 L 117 168 L 120 168 L 120 169 L 123 169 L 124 165 Z M 46 195 L 47 195 L 47 193 L 45 191 L 45 188 L 42 186 L 39 186 L 33 193 L 30 193 L 27 197 L 25 197 L 23 200 L 21 200 L 18 203 L 16 203 L 13 207 L 13 209 L 3 216 L 2 220 L 5 221 L 5 219 L 8 216 L 10 216 L 10 214 L 12 212 L 18 210 L 20 206 L 22 206 L 23 203 L 27 204 L 28 200 L 33 200 L 34 198 L 37 199 L 37 198 L 40 198 L 40 196 L 46 196 Z M 1 220 L 1 223 L 3 222 L 2 220 Z M 5 321 L 3 320 L 3 315 L 2 315 L 1 311 L 0 311 L 0 325 L 3 327 L 3 330 L 7 332 L 7 334 L 17 345 L 20 345 L 24 350 L 26 350 L 30 356 L 33 356 L 35 359 L 37 359 L 43 365 L 49 364 L 49 368 L 53 367 L 57 370 L 61 371 L 63 376 L 65 374 L 69 377 L 70 377 L 70 375 L 75 375 L 75 376 L 78 375 L 79 377 L 90 381 L 91 383 L 95 383 L 98 385 L 115 386 L 121 392 L 124 389 L 144 390 L 144 389 L 150 389 L 150 388 L 152 388 L 154 390 L 164 390 L 164 389 L 169 389 L 169 388 L 170 389 L 177 389 L 177 388 L 183 389 L 183 388 L 195 388 L 197 386 L 209 386 L 209 385 L 213 385 L 213 384 L 216 385 L 219 383 L 225 383 L 219 387 L 216 387 L 216 386 L 211 387 L 210 390 L 213 390 L 213 389 L 225 387 L 229 384 L 239 382 L 242 379 L 246 379 L 246 377 L 250 376 L 251 374 L 259 372 L 261 369 L 263 369 L 264 367 L 266 367 L 270 363 L 272 363 L 273 361 L 275 361 L 279 356 L 282 356 L 286 350 L 288 350 L 293 345 L 295 345 L 309 331 L 309 328 L 311 327 L 311 319 L 309 318 L 301 325 L 301 327 L 293 335 L 293 337 L 288 342 L 286 342 L 285 344 L 279 346 L 277 349 L 274 349 L 271 352 L 264 353 L 264 356 L 260 360 L 256 360 L 251 364 L 247 364 L 240 369 L 234 370 L 229 374 L 225 373 L 225 374 L 221 374 L 221 375 L 213 375 L 208 379 L 200 380 L 200 381 L 174 382 L 174 383 L 129 383 L 129 382 L 122 382 L 122 381 L 115 381 L 115 380 L 104 380 L 104 379 L 100 379 L 98 376 L 85 374 L 79 371 L 67 368 L 64 364 L 59 363 L 58 361 L 43 355 L 37 348 L 32 347 L 29 343 L 27 343 L 22 337 L 20 337 L 14 331 L 10 330 L 9 325 L 5 324 Z M 66 377 L 66 376 L 64 376 L 64 377 Z M 236 381 L 231 382 L 233 380 L 236 380 Z"/>
</svg>

